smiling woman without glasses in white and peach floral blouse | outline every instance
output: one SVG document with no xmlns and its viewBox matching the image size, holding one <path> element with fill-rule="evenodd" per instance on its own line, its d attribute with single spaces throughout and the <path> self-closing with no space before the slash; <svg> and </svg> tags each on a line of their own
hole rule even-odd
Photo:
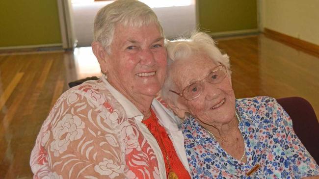
<svg viewBox="0 0 319 179">
<path fill-rule="evenodd" d="M 54 104 L 31 153 L 34 178 L 189 179 L 183 135 L 154 100 L 167 51 L 153 10 L 137 0 L 106 5 L 92 50 L 104 75 Z"/>
</svg>

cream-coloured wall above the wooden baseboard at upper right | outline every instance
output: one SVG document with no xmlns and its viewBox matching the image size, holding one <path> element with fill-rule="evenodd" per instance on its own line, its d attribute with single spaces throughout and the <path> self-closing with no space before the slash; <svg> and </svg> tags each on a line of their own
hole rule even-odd
<svg viewBox="0 0 319 179">
<path fill-rule="evenodd" d="M 261 0 L 261 27 L 319 45 L 319 0 Z"/>
</svg>

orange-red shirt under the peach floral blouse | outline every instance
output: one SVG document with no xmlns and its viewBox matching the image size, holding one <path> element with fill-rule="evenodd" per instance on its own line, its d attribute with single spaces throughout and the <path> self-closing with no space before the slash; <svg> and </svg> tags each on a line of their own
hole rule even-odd
<svg viewBox="0 0 319 179">
<path fill-rule="evenodd" d="M 158 118 L 156 117 L 152 109 L 151 113 L 151 117 L 149 117 L 146 120 L 143 120 L 142 123 L 144 123 L 146 127 L 150 130 L 150 132 L 153 134 L 160 146 L 160 150 L 163 154 L 165 162 L 166 177 L 168 176 L 169 172 L 173 171 L 176 173 L 179 179 L 190 179 L 187 170 L 185 169 L 183 163 L 181 162 L 181 160 L 177 156 L 177 153 L 175 152 L 173 143 L 168 137 L 165 128 L 160 126 Z M 166 159 L 166 156 L 168 156 L 169 163 Z M 171 166 L 171 169 L 169 169 L 169 165 Z"/>
</svg>

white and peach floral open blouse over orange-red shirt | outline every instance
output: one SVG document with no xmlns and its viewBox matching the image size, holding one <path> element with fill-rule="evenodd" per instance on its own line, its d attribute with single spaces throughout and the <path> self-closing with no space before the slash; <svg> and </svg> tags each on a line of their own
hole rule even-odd
<svg viewBox="0 0 319 179">
<path fill-rule="evenodd" d="M 177 119 L 157 100 L 152 108 L 188 169 Z M 160 148 L 142 119 L 105 77 L 71 88 L 57 100 L 38 134 L 30 158 L 33 178 L 166 178 Z"/>
</svg>

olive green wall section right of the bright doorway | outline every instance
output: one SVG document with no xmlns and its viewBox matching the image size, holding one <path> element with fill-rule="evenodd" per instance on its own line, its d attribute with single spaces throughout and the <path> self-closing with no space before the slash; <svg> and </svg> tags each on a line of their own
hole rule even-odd
<svg viewBox="0 0 319 179">
<path fill-rule="evenodd" d="M 210 32 L 256 29 L 256 0 L 197 0 L 199 25 Z"/>
</svg>

